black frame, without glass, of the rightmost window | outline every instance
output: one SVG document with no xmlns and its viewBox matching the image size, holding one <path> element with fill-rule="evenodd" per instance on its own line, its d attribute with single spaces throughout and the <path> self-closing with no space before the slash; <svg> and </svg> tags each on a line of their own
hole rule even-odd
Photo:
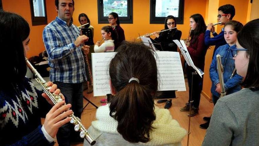
<svg viewBox="0 0 259 146">
<path fill-rule="evenodd" d="M 155 17 L 156 0 L 150 0 L 150 24 L 164 24 L 166 17 Z M 177 24 L 183 24 L 184 0 L 179 0 L 179 14 L 175 17 Z"/>
</svg>

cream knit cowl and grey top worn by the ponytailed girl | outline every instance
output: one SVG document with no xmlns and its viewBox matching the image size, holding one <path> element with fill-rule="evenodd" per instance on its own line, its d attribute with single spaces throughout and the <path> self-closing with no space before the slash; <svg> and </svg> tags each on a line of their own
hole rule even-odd
<svg viewBox="0 0 259 146">
<path fill-rule="evenodd" d="M 92 122 L 92 126 L 89 128 L 89 133 L 93 134 L 96 138 L 96 145 L 172 145 L 179 146 L 183 137 L 186 135 L 186 130 L 181 128 L 179 123 L 172 119 L 169 110 L 155 108 L 156 120 L 153 122 L 152 129 L 150 131 L 151 140 L 147 143 L 129 143 L 122 138 L 117 132 L 118 122 L 109 116 L 109 104 L 101 106 L 96 112 L 96 121 Z M 84 146 L 88 143 L 85 141 Z"/>
</svg>

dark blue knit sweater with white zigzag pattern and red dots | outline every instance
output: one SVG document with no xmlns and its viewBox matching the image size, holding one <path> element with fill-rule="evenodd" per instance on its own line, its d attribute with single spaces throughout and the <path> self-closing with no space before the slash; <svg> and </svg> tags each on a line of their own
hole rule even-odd
<svg viewBox="0 0 259 146">
<path fill-rule="evenodd" d="M 0 87 L 0 145 L 54 144 L 41 131 L 40 117 L 51 108 L 41 93 L 26 77 L 20 83 Z"/>
</svg>

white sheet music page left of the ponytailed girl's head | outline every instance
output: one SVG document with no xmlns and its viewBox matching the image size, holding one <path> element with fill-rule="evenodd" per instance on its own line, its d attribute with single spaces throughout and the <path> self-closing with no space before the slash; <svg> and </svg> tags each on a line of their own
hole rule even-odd
<svg viewBox="0 0 259 146">
<path fill-rule="evenodd" d="M 92 53 L 92 75 L 94 96 L 111 93 L 109 86 L 109 63 L 116 52 Z"/>
</svg>

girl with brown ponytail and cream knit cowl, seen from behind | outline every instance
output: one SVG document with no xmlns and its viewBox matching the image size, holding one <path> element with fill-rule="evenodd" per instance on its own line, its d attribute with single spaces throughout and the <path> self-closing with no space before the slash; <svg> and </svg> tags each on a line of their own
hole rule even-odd
<svg viewBox="0 0 259 146">
<path fill-rule="evenodd" d="M 89 133 L 96 145 L 179 145 L 185 129 L 167 109 L 154 105 L 157 65 L 154 53 L 143 44 L 122 44 L 109 65 L 110 103 L 96 112 Z M 84 146 L 89 145 L 84 142 Z"/>
</svg>

